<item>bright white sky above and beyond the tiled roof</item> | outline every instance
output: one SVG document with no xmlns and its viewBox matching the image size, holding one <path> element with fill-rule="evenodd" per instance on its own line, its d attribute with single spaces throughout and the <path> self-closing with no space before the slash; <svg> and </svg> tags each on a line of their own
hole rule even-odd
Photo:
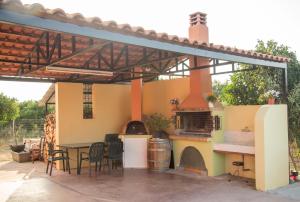
<svg viewBox="0 0 300 202">
<path fill-rule="evenodd" d="M 300 58 L 298 0 L 23 0 L 67 13 L 97 16 L 157 32 L 187 37 L 189 14 L 207 13 L 210 42 L 255 49 L 258 39 L 287 45 Z M 215 76 L 224 80 L 228 76 Z M 0 92 L 20 101 L 39 100 L 50 84 L 0 81 Z"/>
</svg>

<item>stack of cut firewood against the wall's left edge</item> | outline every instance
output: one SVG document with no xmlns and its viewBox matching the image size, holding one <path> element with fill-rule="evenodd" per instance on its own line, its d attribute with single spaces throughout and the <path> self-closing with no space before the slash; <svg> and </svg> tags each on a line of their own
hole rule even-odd
<svg viewBox="0 0 300 202">
<path fill-rule="evenodd" d="M 55 114 L 48 114 L 44 123 L 45 146 L 44 146 L 44 160 L 48 159 L 48 143 L 55 145 Z"/>
</svg>

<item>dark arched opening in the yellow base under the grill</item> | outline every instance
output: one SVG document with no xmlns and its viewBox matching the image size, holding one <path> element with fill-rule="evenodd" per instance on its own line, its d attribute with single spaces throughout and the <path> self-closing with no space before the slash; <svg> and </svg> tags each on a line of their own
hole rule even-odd
<svg viewBox="0 0 300 202">
<path fill-rule="evenodd" d="M 181 153 L 179 166 L 187 171 L 207 175 L 205 160 L 201 152 L 193 146 L 187 146 L 184 148 Z"/>
</svg>

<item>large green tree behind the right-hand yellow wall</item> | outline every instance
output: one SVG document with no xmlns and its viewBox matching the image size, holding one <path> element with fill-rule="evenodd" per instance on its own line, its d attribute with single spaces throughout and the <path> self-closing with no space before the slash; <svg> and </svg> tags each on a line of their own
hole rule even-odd
<svg viewBox="0 0 300 202">
<path fill-rule="evenodd" d="M 267 43 L 259 40 L 256 51 L 265 54 L 285 56 L 290 59 L 288 63 L 288 89 L 294 88 L 300 81 L 300 65 L 296 54 L 288 46 L 278 45 L 270 40 Z M 241 65 L 248 68 L 249 65 Z M 264 104 L 266 93 L 274 91 L 278 93 L 278 99 L 283 100 L 282 69 L 258 66 L 254 71 L 234 73 L 229 84 L 222 90 L 221 100 L 232 105 L 240 104 Z"/>
</svg>

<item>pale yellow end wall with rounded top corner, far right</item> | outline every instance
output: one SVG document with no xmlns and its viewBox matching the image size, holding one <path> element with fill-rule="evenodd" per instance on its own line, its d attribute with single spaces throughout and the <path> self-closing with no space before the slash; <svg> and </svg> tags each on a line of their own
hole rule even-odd
<svg viewBox="0 0 300 202">
<path fill-rule="evenodd" d="M 288 124 L 286 105 L 264 105 L 255 117 L 256 189 L 288 185 Z"/>
</svg>

